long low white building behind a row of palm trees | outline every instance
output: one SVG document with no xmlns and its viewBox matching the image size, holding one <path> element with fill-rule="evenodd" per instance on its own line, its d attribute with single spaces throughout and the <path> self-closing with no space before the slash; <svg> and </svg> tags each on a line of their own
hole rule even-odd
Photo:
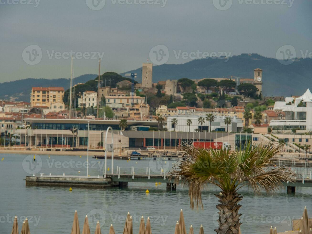
<svg viewBox="0 0 312 234">
<path fill-rule="evenodd" d="M 198 123 L 198 118 L 204 117 L 205 123 L 201 126 Z M 211 123 L 211 130 L 215 131 L 227 131 L 227 124 L 224 123 L 226 116 L 215 115 L 214 121 Z M 172 119 L 177 119 L 176 125 L 172 124 Z M 190 126 L 187 124 L 188 119 L 192 121 Z M 229 124 L 229 132 L 241 132 L 243 129 L 242 119 L 231 117 L 231 124 Z M 167 129 L 168 131 L 180 131 L 180 132 L 194 132 L 196 129 L 203 129 L 203 131 L 209 131 L 209 121 L 206 120 L 206 115 L 171 115 L 167 117 Z"/>
</svg>

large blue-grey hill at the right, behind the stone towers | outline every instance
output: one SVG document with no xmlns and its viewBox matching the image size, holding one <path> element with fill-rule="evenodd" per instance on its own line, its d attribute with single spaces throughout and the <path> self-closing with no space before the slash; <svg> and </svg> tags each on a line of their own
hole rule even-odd
<svg viewBox="0 0 312 234">
<path fill-rule="evenodd" d="M 153 67 L 153 82 L 178 80 L 180 78 L 200 79 L 239 76 L 253 78 L 253 70 L 263 70 L 262 94 L 267 96 L 301 95 L 312 88 L 312 60 L 297 58 L 290 65 L 283 65 L 277 59 L 258 54 L 241 54 L 224 59 L 196 59 L 184 64 L 163 64 Z M 141 82 L 142 68 L 121 73 L 137 73 Z"/>
</svg>

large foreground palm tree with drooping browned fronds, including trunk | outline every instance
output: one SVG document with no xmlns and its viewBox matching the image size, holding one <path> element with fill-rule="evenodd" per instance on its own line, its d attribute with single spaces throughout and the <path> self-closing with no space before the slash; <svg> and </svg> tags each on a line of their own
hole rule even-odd
<svg viewBox="0 0 312 234">
<path fill-rule="evenodd" d="M 289 168 L 275 165 L 274 156 L 280 148 L 270 145 L 247 144 L 244 150 L 213 150 L 183 147 L 186 159 L 176 164 L 170 172 L 174 184 L 182 183 L 189 187 L 190 206 L 192 209 L 203 208 L 202 189 L 208 184 L 220 188 L 221 193 L 215 196 L 219 199 L 219 227 L 214 231 L 218 234 L 236 234 L 239 231 L 241 214 L 238 204 L 243 196 L 238 190 L 248 185 L 254 192 L 265 190 L 273 193 L 283 187 L 282 182 L 295 181 L 295 173 Z M 273 169 L 271 169 L 273 168 Z"/>
</svg>

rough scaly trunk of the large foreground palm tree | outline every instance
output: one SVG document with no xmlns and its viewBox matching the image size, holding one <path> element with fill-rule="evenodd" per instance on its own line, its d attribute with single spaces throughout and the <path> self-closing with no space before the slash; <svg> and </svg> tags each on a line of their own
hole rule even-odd
<svg viewBox="0 0 312 234">
<path fill-rule="evenodd" d="M 241 205 L 237 203 L 240 202 L 243 198 L 241 194 L 237 192 L 221 192 L 220 194 L 215 194 L 219 198 L 218 205 L 216 206 L 219 210 L 219 223 L 218 229 L 214 231 L 217 234 L 238 234 L 239 227 L 241 223 L 239 222 L 239 217 L 241 214 L 238 213 L 238 210 L 241 208 Z"/>
</svg>

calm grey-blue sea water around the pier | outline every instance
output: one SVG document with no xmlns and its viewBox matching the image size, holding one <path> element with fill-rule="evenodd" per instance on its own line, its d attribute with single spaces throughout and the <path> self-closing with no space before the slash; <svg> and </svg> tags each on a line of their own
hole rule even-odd
<svg viewBox="0 0 312 234">
<path fill-rule="evenodd" d="M 193 211 L 189 207 L 188 190 L 181 187 L 177 191 L 166 192 L 166 183 L 155 186 L 154 183 L 129 183 L 128 188 L 90 189 L 68 187 L 36 187 L 26 186 L 25 177 L 29 175 L 23 160 L 27 155 L 0 154 L 0 233 L 7 234 L 12 229 L 12 217 L 19 217 L 19 230 L 22 228 L 23 216 L 29 218 L 32 234 L 70 233 L 74 212 L 78 211 L 80 231 L 84 217 L 89 213 L 91 233 L 95 232 L 95 224 L 99 219 L 102 233 L 108 233 L 112 223 L 116 233 L 122 233 L 124 219 L 129 211 L 134 217 L 134 233 L 139 231 L 139 217 L 151 218 L 152 232 L 174 233 L 175 223 L 179 219 L 180 209 L 183 209 L 187 232 L 192 224 L 194 232 L 198 233 L 202 224 L 207 234 L 215 233 L 217 215 L 216 187 L 208 187 L 202 194 L 204 210 Z M 29 156 L 32 158 L 33 156 Z M 54 156 L 40 155 L 42 167 L 40 173 L 52 175 L 86 174 L 86 168 L 79 165 L 85 162 L 86 156 Z M 39 158 L 37 156 L 37 162 Z M 92 168 L 89 174 L 102 175 L 101 167 L 104 160 L 90 158 Z M 98 163 L 98 161 L 100 163 Z M 137 163 L 137 164 L 136 164 Z M 146 167 L 152 167 L 157 172 L 155 163 L 161 163 L 164 168 L 171 168 L 172 161 L 134 161 L 114 160 L 114 167 L 120 166 L 123 171 L 146 173 Z M 108 167 L 111 161 L 108 160 Z M 159 169 L 159 165 L 158 169 Z M 65 167 L 65 168 L 64 168 Z M 67 168 L 68 167 L 68 168 Z M 126 169 L 128 168 L 128 169 Z M 141 169 L 138 169 L 141 168 Z M 38 174 L 38 173 L 37 173 Z M 146 194 L 145 190 L 150 193 Z M 296 188 L 296 193 L 286 194 L 286 189 L 274 195 L 254 195 L 248 188 L 241 189 L 244 196 L 240 202 L 240 213 L 243 215 L 242 233 L 269 233 L 270 226 L 277 227 L 279 232 L 291 230 L 290 220 L 300 218 L 303 208 L 307 206 L 312 214 L 312 188 Z"/>
</svg>

